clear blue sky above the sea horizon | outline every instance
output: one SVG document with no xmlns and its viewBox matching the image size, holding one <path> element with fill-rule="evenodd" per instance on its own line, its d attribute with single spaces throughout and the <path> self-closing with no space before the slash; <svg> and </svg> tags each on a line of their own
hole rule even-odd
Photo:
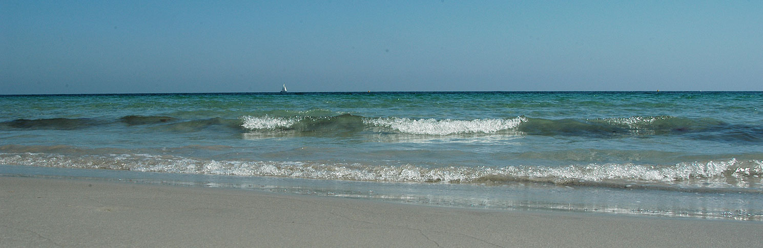
<svg viewBox="0 0 763 248">
<path fill-rule="evenodd" d="M 763 1 L 0 1 L 0 94 L 763 91 Z"/>
</svg>

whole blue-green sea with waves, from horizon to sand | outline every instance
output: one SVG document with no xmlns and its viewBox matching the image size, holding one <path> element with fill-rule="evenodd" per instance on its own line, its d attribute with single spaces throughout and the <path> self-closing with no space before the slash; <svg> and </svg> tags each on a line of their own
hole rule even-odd
<svg viewBox="0 0 763 248">
<path fill-rule="evenodd" d="M 0 95 L 0 180 L 763 221 L 763 92 Z"/>
</svg>

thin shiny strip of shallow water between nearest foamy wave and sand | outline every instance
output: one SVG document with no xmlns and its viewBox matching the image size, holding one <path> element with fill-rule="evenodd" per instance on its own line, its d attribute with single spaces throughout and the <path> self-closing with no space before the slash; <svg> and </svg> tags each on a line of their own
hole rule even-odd
<svg viewBox="0 0 763 248">
<path fill-rule="evenodd" d="M 561 187 L 538 184 L 495 187 L 442 183 L 378 183 L 274 176 L 156 173 L 6 164 L 0 164 L 0 176 L 247 189 L 456 208 L 567 211 L 668 218 L 763 221 L 763 211 L 754 208 L 755 205 L 760 206 L 760 202 L 755 202 L 755 199 L 760 197 L 745 197 L 743 195 L 749 193 L 742 192 L 739 194 L 655 192 L 655 190 L 642 189 L 600 189 L 597 187 Z M 625 193 L 627 196 L 623 196 Z M 751 199 L 752 202 L 744 202 L 743 199 Z M 681 202 L 681 206 L 684 208 L 671 208 L 671 202 Z M 694 206 L 695 208 L 687 208 L 686 206 Z"/>
</svg>

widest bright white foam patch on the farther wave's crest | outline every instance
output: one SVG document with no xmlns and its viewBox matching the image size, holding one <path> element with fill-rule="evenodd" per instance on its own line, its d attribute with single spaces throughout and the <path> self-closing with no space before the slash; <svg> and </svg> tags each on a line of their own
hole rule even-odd
<svg viewBox="0 0 763 248">
<path fill-rule="evenodd" d="M 527 119 L 519 116 L 513 119 L 408 119 L 408 118 L 377 118 L 364 119 L 373 126 L 388 127 L 399 132 L 414 135 L 453 135 L 465 133 L 494 133 L 502 130 L 516 129 Z"/>
</svg>

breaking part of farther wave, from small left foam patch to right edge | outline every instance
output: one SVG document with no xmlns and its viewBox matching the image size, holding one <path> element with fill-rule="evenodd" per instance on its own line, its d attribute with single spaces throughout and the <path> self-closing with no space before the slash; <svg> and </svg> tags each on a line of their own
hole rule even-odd
<svg viewBox="0 0 763 248">
<path fill-rule="evenodd" d="M 718 119 L 675 116 L 631 116 L 603 119 L 541 119 L 516 116 L 504 119 L 412 119 L 405 117 L 241 116 L 249 132 L 381 132 L 406 135 L 687 135 L 689 138 L 763 141 L 761 126 L 732 126 Z"/>
</svg>

